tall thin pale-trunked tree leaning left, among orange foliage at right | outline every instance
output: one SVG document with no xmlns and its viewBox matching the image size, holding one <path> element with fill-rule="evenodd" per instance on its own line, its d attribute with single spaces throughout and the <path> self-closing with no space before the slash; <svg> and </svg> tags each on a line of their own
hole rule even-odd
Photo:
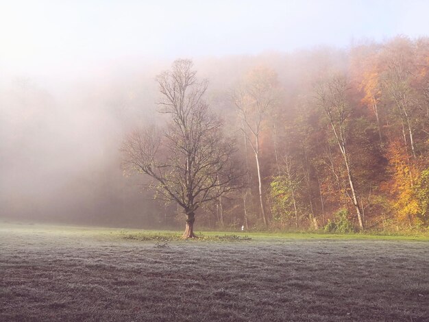
<svg viewBox="0 0 429 322">
<path fill-rule="evenodd" d="M 347 189 L 345 189 L 345 191 L 356 208 L 360 230 L 364 230 L 363 214 L 358 203 L 350 156 L 347 150 L 347 120 L 350 118 L 352 110 L 347 103 L 346 93 L 347 82 L 345 77 L 341 75 L 331 77 L 326 82 L 321 82 L 316 88 L 317 101 L 328 117 L 332 132 L 334 133 L 334 138 L 343 156 L 345 169 L 347 170 L 347 179 L 351 195 L 348 193 Z"/>
</svg>

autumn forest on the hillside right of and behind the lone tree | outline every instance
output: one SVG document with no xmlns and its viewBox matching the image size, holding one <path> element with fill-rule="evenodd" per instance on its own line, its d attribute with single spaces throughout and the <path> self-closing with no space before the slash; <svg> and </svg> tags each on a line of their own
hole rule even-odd
<svg viewBox="0 0 429 322">
<path fill-rule="evenodd" d="M 253 66 L 230 90 L 212 98 L 214 110 L 219 101 L 225 106 L 219 112 L 230 140 L 241 141 L 235 158 L 245 174 L 240 189 L 230 185 L 235 193 L 219 193 L 206 203 L 206 225 L 215 220 L 219 227 L 243 225 L 246 230 L 343 233 L 426 229 L 429 40 L 397 37 L 352 47 L 338 58 L 328 52 L 325 57 L 314 54 L 318 63 L 301 62 L 299 77 L 286 78 L 291 83 L 269 66 Z M 192 62 L 173 64 L 176 72 L 184 68 L 192 68 Z M 186 90 L 203 95 L 206 87 L 177 90 L 181 72 L 173 72 L 176 82 L 171 90 L 167 86 L 167 92 L 162 74 L 161 93 L 182 100 Z M 194 74 L 191 77 L 191 83 L 197 82 Z M 180 113 L 175 117 L 182 119 Z M 204 124 L 212 126 L 212 122 Z M 171 129 L 167 136 L 175 144 L 182 142 Z M 215 153 L 212 147 L 210 151 Z M 167 163 L 158 164 L 158 169 L 165 169 Z M 141 169 L 159 179 L 152 170 Z M 164 176 L 160 182 L 160 190 L 173 195 L 172 180 Z"/>
</svg>

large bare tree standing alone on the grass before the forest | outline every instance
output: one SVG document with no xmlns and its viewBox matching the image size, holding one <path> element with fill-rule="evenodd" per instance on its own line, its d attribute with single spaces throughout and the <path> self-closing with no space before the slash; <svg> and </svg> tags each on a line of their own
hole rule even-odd
<svg viewBox="0 0 429 322">
<path fill-rule="evenodd" d="M 193 238 L 195 211 L 208 201 L 240 188 L 243 173 L 233 156 L 235 142 L 222 131 L 203 96 L 206 80 L 199 81 L 191 60 L 176 60 L 171 71 L 157 77 L 160 113 L 169 121 L 135 130 L 123 142 L 123 167 L 149 175 L 149 188 L 184 210 L 184 238 Z"/>
</svg>

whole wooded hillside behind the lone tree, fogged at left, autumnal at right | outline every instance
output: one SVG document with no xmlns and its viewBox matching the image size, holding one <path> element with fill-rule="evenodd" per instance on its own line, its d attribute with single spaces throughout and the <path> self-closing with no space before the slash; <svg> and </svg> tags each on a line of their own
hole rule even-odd
<svg viewBox="0 0 429 322">
<path fill-rule="evenodd" d="M 154 200 L 141 186 L 143 177 L 123 176 L 119 151 L 132 129 L 164 121 L 154 79 L 170 66 L 104 71 L 81 87 L 62 89 L 62 99 L 22 79 L 0 88 L 3 103 L 14 106 L 0 119 L 8 138 L 2 151 L 19 157 L 2 164 L 3 214 L 25 219 L 31 210 L 67 221 L 64 213 L 73 212 L 73 220 L 90 224 L 182 227 L 175 203 Z M 196 225 L 427 230 L 429 38 L 199 58 L 193 70 L 207 80 L 204 101 L 234 142 L 234 162 L 245 173 L 240 189 L 197 210 Z M 27 160 L 41 169 L 30 183 Z M 45 177 L 60 179 L 48 187 Z"/>
</svg>

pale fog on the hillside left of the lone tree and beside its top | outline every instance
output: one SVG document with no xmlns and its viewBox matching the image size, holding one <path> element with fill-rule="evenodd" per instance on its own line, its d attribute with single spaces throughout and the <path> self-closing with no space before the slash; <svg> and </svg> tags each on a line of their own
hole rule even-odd
<svg viewBox="0 0 429 322">
<path fill-rule="evenodd" d="M 287 69 L 282 81 L 293 84 L 298 70 L 286 58 L 282 53 L 199 58 L 195 69 L 210 79 L 208 100 L 225 117 L 233 112 L 225 101 L 228 92 L 252 66 Z M 14 77 L 3 86 L 1 216 L 138 227 L 163 225 L 160 213 L 174 216 L 174 206 L 165 208 L 145 190 L 143 176 L 123 175 L 119 151 L 127 132 L 160 121 L 155 77 L 170 64 L 106 66 L 90 79 L 62 82 L 49 90 L 29 77 Z"/>
</svg>

